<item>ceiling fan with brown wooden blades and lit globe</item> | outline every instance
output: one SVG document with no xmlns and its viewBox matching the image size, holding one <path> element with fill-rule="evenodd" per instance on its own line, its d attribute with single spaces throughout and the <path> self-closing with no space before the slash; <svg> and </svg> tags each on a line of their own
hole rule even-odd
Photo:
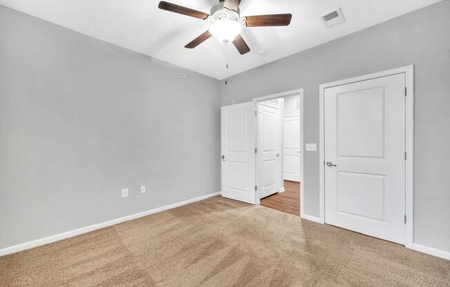
<svg viewBox="0 0 450 287">
<path fill-rule="evenodd" d="M 208 31 L 190 41 L 184 48 L 193 49 L 211 36 L 214 36 L 222 43 L 232 42 L 241 55 L 250 52 L 250 48 L 248 48 L 247 43 L 240 34 L 242 27 L 288 26 L 291 23 L 292 14 L 241 17 L 240 2 L 241 0 L 219 0 L 219 3 L 211 8 L 211 14 L 166 1 L 159 2 L 158 8 L 211 22 L 211 27 Z"/>
</svg>

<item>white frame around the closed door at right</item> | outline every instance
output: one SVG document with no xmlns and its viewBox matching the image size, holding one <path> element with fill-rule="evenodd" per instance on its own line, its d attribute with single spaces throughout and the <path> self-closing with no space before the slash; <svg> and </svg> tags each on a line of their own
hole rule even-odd
<svg viewBox="0 0 450 287">
<path fill-rule="evenodd" d="M 387 70 L 383 72 L 375 72 L 369 75 L 363 75 L 360 77 L 354 77 L 351 79 L 344 79 L 341 81 L 333 81 L 331 83 L 324 83 L 320 85 L 320 125 L 319 125 L 319 205 L 320 205 L 320 215 L 317 221 L 324 224 L 325 223 L 325 166 L 324 166 L 324 154 L 325 154 L 325 122 L 324 122 L 324 90 L 325 88 L 331 88 L 334 86 L 341 86 L 348 83 L 355 83 L 358 81 L 366 81 L 369 79 L 376 79 L 380 77 L 387 77 L 391 75 L 405 74 L 405 92 L 406 94 L 406 106 L 405 106 L 405 117 L 406 117 L 406 127 L 405 127 L 405 151 L 407 152 L 406 166 L 405 166 L 405 215 L 407 217 L 407 222 L 405 224 L 405 236 L 404 236 L 404 246 L 408 248 L 413 248 L 413 185 L 414 185 L 414 174 L 413 174 L 413 123 L 414 123 L 414 67 L 405 66 L 402 68 L 396 68 L 392 70 Z M 302 192 L 303 193 L 303 192 Z M 303 200 L 302 200 L 303 201 Z M 302 208 L 303 209 L 303 208 Z"/>
</svg>

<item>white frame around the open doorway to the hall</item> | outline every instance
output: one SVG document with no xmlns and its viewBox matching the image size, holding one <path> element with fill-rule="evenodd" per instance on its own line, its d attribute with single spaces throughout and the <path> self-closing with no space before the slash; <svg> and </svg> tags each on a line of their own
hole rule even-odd
<svg viewBox="0 0 450 287">
<path fill-rule="evenodd" d="M 253 99 L 253 103 L 255 103 L 255 147 L 258 148 L 258 141 L 257 141 L 257 105 L 260 101 L 268 101 L 269 99 L 278 99 L 278 98 L 284 98 L 284 97 L 289 97 L 289 96 L 293 96 L 293 95 L 299 95 L 300 96 L 300 145 L 303 146 L 303 88 L 301 89 L 297 89 L 297 90 L 289 90 L 287 92 L 279 92 L 277 94 L 273 94 L 273 95 L 267 95 L 267 96 L 262 96 L 262 97 L 257 97 Z M 304 149 L 302 149 L 304 150 Z M 304 170 L 304 156 L 303 156 L 304 152 L 300 153 L 300 157 L 301 157 L 301 165 L 300 168 L 302 170 L 302 182 L 300 182 L 300 216 L 303 215 L 303 195 L 304 195 L 304 175 L 303 175 L 303 170 Z M 283 153 L 281 152 L 281 156 L 283 155 Z M 259 175 L 260 175 L 260 167 L 259 164 L 257 164 L 258 161 L 258 155 L 256 154 L 256 178 L 255 178 L 255 182 L 258 183 L 259 182 Z M 260 199 L 260 188 L 257 188 L 257 191 L 255 192 L 255 197 L 256 197 L 256 204 L 259 205 L 261 203 L 261 199 Z"/>
</svg>

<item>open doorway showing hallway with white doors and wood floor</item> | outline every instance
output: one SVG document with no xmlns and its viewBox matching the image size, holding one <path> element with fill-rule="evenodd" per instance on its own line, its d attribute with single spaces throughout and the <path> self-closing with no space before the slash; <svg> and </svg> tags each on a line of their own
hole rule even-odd
<svg viewBox="0 0 450 287">
<path fill-rule="evenodd" d="M 303 186 L 303 91 L 254 99 L 257 201 L 300 216 Z"/>
</svg>

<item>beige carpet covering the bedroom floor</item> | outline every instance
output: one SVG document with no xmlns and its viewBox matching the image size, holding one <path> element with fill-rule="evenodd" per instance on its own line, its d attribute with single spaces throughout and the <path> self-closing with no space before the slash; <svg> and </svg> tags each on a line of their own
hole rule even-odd
<svg viewBox="0 0 450 287">
<path fill-rule="evenodd" d="M 214 197 L 0 257 L 0 286 L 450 286 L 450 261 Z"/>
</svg>

